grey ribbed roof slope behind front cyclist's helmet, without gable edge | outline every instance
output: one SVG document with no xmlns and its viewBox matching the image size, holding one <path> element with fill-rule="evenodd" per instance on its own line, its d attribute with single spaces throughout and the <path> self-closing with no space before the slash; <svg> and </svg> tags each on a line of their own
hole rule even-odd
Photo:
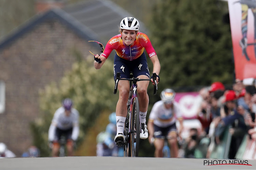
<svg viewBox="0 0 256 170">
<path fill-rule="evenodd" d="M 97 34 L 102 43 L 118 34 L 120 21 L 125 17 L 133 17 L 120 6 L 109 0 L 89 0 L 63 8 L 68 14 L 80 21 Z M 147 33 L 144 24 L 140 22 L 140 31 Z"/>
</svg>

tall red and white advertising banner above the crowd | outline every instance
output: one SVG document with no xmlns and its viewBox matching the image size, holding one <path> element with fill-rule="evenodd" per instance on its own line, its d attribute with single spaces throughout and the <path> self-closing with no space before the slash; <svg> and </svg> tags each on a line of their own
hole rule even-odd
<svg viewBox="0 0 256 170">
<path fill-rule="evenodd" d="M 228 0 L 228 8 L 236 79 L 256 78 L 256 0 Z"/>
</svg>

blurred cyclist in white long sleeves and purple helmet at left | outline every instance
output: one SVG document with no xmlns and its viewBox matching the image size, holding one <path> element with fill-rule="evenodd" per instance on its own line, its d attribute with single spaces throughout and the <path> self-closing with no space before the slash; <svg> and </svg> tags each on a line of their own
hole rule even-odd
<svg viewBox="0 0 256 170">
<path fill-rule="evenodd" d="M 67 143 L 67 154 L 73 156 L 75 141 L 79 135 L 79 112 L 72 107 L 71 99 L 66 98 L 62 106 L 54 114 L 51 126 L 48 132 L 48 140 L 51 144 L 52 156 L 58 156 L 61 136 L 64 136 Z"/>
</svg>

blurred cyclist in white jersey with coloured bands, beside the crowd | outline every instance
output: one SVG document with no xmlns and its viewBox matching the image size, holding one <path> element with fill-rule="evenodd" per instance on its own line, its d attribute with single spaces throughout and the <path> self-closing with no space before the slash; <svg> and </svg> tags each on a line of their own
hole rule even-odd
<svg viewBox="0 0 256 170">
<path fill-rule="evenodd" d="M 175 92 L 167 88 L 161 92 L 161 100 L 152 107 L 148 120 L 148 140 L 153 141 L 155 157 L 163 157 L 164 138 L 168 139 L 171 147 L 171 157 L 178 157 L 177 134 L 181 137 L 183 130 L 183 118 L 180 106 L 174 101 Z M 176 120 L 180 122 L 179 132 L 176 128 Z M 153 139 L 153 140 L 152 140 Z"/>
</svg>

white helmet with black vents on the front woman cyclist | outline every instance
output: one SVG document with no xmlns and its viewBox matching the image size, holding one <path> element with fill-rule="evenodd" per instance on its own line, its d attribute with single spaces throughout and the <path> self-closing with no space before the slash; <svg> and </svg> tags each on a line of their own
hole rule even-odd
<svg viewBox="0 0 256 170">
<path fill-rule="evenodd" d="M 120 22 L 120 28 L 125 30 L 135 30 L 138 31 L 140 28 L 140 23 L 136 18 L 125 17 Z"/>
</svg>

